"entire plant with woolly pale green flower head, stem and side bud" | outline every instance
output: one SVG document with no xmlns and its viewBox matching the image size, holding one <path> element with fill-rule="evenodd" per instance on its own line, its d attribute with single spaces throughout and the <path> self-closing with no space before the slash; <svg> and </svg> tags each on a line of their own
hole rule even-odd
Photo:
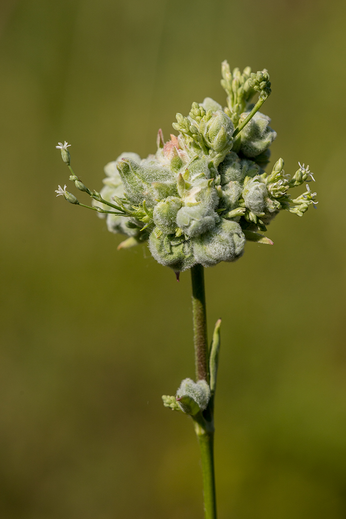
<svg viewBox="0 0 346 519">
<path fill-rule="evenodd" d="M 70 144 L 59 143 L 70 180 L 92 199 L 92 206 L 80 203 L 66 191 L 56 191 L 68 202 L 88 207 L 106 217 L 113 233 L 127 235 L 118 249 L 148 241 L 154 258 L 179 272 L 191 269 L 193 331 L 196 383 L 186 378 L 175 396 L 162 397 L 163 404 L 190 415 L 195 424 L 202 457 L 204 511 L 206 519 L 216 518 L 213 466 L 213 406 L 216 387 L 220 320 L 211 348 L 207 347 L 203 267 L 221 261 L 233 262 L 244 252 L 245 241 L 272 244 L 258 231 L 281 210 L 302 216 L 317 203 L 309 185 L 292 199 L 288 190 L 314 181 L 309 166 L 299 163 L 290 177 L 280 158 L 270 173 L 269 146 L 276 138 L 270 118 L 259 108 L 271 93 L 266 70 L 251 73 L 246 67 L 230 71 L 222 63 L 221 84 L 227 92 L 224 109 L 211 98 L 192 103 L 187 117 L 176 114 L 173 128 L 178 136 L 164 142 L 157 136 L 157 152 L 141 159 L 123 153 L 105 167 L 105 186 L 91 191 L 74 174 L 70 165 Z M 252 99 L 256 92 L 256 104 Z"/>
</svg>

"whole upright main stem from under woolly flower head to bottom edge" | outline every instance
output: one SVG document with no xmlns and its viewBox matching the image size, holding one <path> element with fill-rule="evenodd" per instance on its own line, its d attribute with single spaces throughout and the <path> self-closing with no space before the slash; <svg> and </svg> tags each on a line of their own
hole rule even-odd
<svg viewBox="0 0 346 519">
<path fill-rule="evenodd" d="M 206 336 L 206 307 L 204 291 L 204 269 L 202 265 L 191 268 L 193 342 L 195 344 L 196 378 L 209 383 L 209 354 Z M 195 419 L 195 431 L 201 450 L 204 518 L 217 519 L 215 471 L 214 471 L 214 420 L 213 403 L 205 409 L 201 419 Z"/>
</svg>

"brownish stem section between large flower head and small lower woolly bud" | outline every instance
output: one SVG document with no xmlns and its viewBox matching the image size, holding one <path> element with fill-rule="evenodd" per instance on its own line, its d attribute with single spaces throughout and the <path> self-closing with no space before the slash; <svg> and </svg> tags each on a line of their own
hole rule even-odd
<svg viewBox="0 0 346 519">
<path fill-rule="evenodd" d="M 195 362 L 197 380 L 209 382 L 207 368 L 206 309 L 204 293 L 204 269 L 202 265 L 191 268 L 192 281 L 192 316 L 193 343 L 195 344 Z"/>
</svg>

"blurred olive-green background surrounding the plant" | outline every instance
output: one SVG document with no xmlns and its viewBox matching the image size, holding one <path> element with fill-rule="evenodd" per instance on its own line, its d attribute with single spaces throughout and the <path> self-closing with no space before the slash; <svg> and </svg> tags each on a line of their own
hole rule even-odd
<svg viewBox="0 0 346 519">
<path fill-rule="evenodd" d="M 117 252 L 56 198 L 54 146 L 99 189 L 192 101 L 225 103 L 228 59 L 269 70 L 272 158 L 308 162 L 320 203 L 205 272 L 209 331 L 223 318 L 219 519 L 344 518 L 344 2 L 2 0 L 0 15 L 1 517 L 202 517 L 192 424 L 160 399 L 193 376 L 189 272 Z"/>
</svg>

